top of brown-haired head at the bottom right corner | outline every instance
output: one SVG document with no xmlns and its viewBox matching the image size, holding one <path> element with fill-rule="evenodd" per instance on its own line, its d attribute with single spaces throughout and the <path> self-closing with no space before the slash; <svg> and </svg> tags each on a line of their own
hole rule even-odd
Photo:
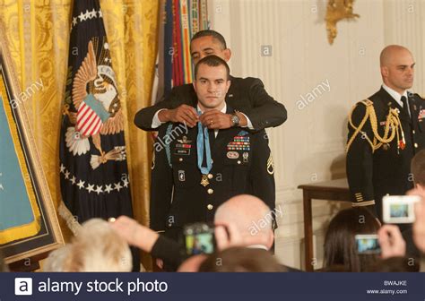
<svg viewBox="0 0 425 301">
<path fill-rule="evenodd" d="M 390 257 L 379 259 L 372 264 L 366 271 L 379 272 L 404 272 L 419 271 L 419 262 L 413 258 L 407 257 Z"/>
</svg>

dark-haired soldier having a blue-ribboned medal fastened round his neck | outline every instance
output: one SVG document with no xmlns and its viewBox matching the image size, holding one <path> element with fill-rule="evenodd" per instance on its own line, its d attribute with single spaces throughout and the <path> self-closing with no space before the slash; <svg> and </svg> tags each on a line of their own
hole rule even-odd
<svg viewBox="0 0 425 301">
<path fill-rule="evenodd" d="M 230 88 L 228 64 L 206 56 L 195 66 L 192 103 L 202 116 L 213 110 L 233 112 L 225 101 Z M 207 122 L 213 123 L 213 120 Z M 154 143 L 151 186 L 151 228 L 177 239 L 187 223 L 212 221 L 230 197 L 248 193 L 274 209 L 273 159 L 264 130 L 248 133 L 235 125 L 208 129 L 201 122 L 160 126 Z"/>
</svg>

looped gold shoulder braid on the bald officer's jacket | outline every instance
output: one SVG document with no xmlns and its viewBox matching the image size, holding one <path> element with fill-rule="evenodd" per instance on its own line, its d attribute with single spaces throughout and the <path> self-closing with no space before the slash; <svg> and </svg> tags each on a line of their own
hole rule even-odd
<svg viewBox="0 0 425 301">
<path fill-rule="evenodd" d="M 351 116 L 352 116 L 352 112 L 358 106 L 358 104 L 356 104 L 354 107 L 351 108 L 351 112 L 350 112 L 350 115 L 348 116 L 348 120 L 349 120 L 349 125 L 354 129 L 354 133 L 352 133 L 350 140 L 347 142 L 347 146 L 345 148 L 346 152 L 350 150 L 351 143 L 354 141 L 354 139 L 359 133 L 364 134 L 364 139 L 366 139 L 369 142 L 370 147 L 372 148 L 372 152 L 379 149 L 383 144 L 392 142 L 395 138 L 395 133 L 397 134 L 397 148 L 400 148 L 400 145 L 401 145 L 401 142 L 399 139 L 400 132 L 402 133 L 403 144 L 405 144 L 403 127 L 402 127 L 402 123 L 400 122 L 400 118 L 398 116 L 398 111 L 396 108 L 389 107 L 388 116 L 386 116 L 386 128 L 384 130 L 384 137 L 381 137 L 379 133 L 377 133 L 377 114 L 375 113 L 373 102 L 369 99 L 366 99 L 366 100 L 360 101 L 359 104 L 364 105 L 366 107 L 366 113 L 365 113 L 365 116 L 363 116 L 363 119 L 361 120 L 360 125 L 356 126 L 356 125 L 353 125 Z M 361 129 L 367 123 L 368 119 L 370 120 L 370 125 L 372 127 L 373 142 L 370 141 L 366 133 L 361 132 Z M 395 131 L 391 131 L 391 134 L 388 134 L 390 128 L 395 129 Z"/>
</svg>

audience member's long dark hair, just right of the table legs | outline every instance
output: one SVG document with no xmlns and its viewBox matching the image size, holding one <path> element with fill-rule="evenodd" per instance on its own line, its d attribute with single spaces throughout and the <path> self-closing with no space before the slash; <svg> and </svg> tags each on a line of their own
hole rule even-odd
<svg viewBox="0 0 425 301">
<path fill-rule="evenodd" d="M 346 271 L 365 271 L 377 255 L 357 254 L 357 234 L 377 234 L 379 222 L 367 209 L 351 208 L 338 212 L 325 235 L 325 270 L 343 266 Z"/>
</svg>

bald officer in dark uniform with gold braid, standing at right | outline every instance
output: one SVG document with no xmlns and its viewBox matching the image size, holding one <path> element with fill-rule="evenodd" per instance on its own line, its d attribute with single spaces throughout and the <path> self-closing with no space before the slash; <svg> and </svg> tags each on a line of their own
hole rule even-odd
<svg viewBox="0 0 425 301">
<path fill-rule="evenodd" d="M 382 220 L 382 197 L 413 188 L 411 160 L 425 146 L 425 101 L 412 88 L 412 53 L 392 45 L 380 56 L 383 85 L 349 116 L 347 177 L 353 206 Z M 406 227 L 402 227 L 402 229 Z"/>
</svg>

